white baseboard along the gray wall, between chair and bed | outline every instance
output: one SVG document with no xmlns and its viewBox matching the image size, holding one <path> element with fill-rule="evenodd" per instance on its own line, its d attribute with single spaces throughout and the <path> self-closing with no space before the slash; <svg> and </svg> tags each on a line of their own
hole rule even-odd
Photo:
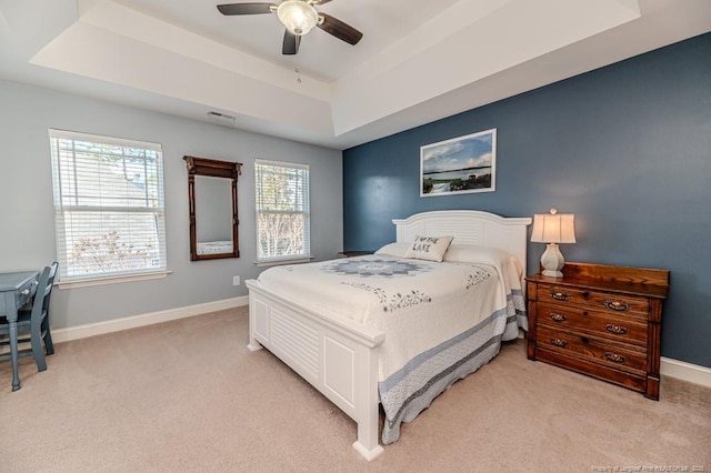
<svg viewBox="0 0 711 473">
<path fill-rule="evenodd" d="M 239 308 L 247 304 L 249 304 L 249 296 L 242 295 L 240 298 L 223 299 L 221 301 L 187 305 L 183 308 L 169 309 L 166 311 L 151 312 L 142 315 L 133 315 L 122 319 L 114 319 L 106 322 L 70 326 L 67 329 L 57 329 L 52 330 L 52 341 L 54 343 L 69 342 L 70 340 L 86 339 L 87 336 L 102 335 L 104 333 L 152 325 L 154 323 L 168 322 L 170 320 L 184 319 L 188 316 L 200 315 L 209 312 Z"/>
</svg>

